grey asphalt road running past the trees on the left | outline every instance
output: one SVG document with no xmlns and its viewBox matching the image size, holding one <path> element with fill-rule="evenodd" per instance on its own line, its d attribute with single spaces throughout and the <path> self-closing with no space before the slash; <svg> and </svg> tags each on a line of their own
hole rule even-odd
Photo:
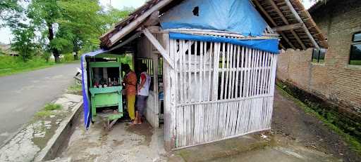
<svg viewBox="0 0 361 162">
<path fill-rule="evenodd" d="M 0 145 L 74 83 L 79 63 L 0 77 Z"/>
</svg>

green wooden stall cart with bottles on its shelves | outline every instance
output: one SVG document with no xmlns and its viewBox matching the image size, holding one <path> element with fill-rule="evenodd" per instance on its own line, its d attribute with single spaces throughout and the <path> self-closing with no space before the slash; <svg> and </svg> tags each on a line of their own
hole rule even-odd
<svg viewBox="0 0 361 162">
<path fill-rule="evenodd" d="M 105 121 L 110 129 L 123 116 L 122 71 L 119 59 L 123 55 L 105 54 L 97 50 L 87 53 L 81 58 L 82 88 L 85 107 L 90 107 L 89 116 L 92 122 Z"/>
</svg>

